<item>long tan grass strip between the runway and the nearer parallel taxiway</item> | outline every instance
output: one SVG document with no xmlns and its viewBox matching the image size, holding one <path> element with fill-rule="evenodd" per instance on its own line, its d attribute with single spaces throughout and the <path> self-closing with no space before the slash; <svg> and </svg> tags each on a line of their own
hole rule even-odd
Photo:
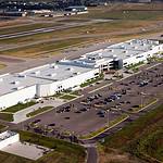
<svg viewBox="0 0 163 163">
<path fill-rule="evenodd" d="M 42 34 L 35 34 L 32 36 L 24 36 L 24 37 L 16 37 L 16 38 L 7 38 L 0 40 L 0 43 L 30 43 L 41 40 L 48 39 L 55 39 L 55 38 L 63 38 L 63 37 L 72 37 L 78 35 L 90 35 L 90 34 L 105 34 L 112 32 L 120 32 L 126 30 L 130 28 L 137 27 L 147 27 L 147 25 L 151 25 L 158 23 L 156 21 L 113 21 L 113 22 L 104 22 L 104 23 L 92 23 L 90 25 L 83 25 L 78 27 L 70 27 L 67 29 L 60 29 L 51 33 L 42 33 Z"/>
</svg>

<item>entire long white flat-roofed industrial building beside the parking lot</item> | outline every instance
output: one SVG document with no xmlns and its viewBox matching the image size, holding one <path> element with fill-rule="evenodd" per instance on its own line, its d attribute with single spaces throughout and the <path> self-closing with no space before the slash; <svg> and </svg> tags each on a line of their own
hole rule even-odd
<svg viewBox="0 0 163 163">
<path fill-rule="evenodd" d="M 163 45 L 158 40 L 133 39 L 86 53 L 79 59 L 63 59 L 21 73 L 1 75 L 0 109 L 4 110 L 18 102 L 25 103 L 36 97 L 76 89 L 103 71 L 146 62 L 160 51 L 163 51 Z"/>
</svg>

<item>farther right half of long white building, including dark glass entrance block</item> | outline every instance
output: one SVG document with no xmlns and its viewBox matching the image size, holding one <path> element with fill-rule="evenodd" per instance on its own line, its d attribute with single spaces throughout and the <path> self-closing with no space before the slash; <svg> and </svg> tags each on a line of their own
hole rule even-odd
<svg viewBox="0 0 163 163">
<path fill-rule="evenodd" d="M 155 40 L 133 39 L 89 52 L 80 61 L 93 61 L 101 71 L 123 68 L 139 62 L 147 62 L 153 54 L 163 51 L 163 45 Z"/>
</svg>

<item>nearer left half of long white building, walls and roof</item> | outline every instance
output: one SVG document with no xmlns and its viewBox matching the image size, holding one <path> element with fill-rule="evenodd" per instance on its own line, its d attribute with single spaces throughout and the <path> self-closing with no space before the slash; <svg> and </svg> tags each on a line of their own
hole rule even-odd
<svg viewBox="0 0 163 163">
<path fill-rule="evenodd" d="M 73 89 L 98 74 L 98 68 L 54 63 L 18 74 L 1 75 L 0 109 L 27 102 L 35 97 L 47 97 L 65 89 Z"/>
</svg>

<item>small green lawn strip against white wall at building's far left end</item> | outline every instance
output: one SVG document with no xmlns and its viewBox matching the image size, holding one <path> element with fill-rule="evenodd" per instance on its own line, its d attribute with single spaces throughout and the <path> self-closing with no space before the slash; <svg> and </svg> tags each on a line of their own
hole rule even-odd
<svg viewBox="0 0 163 163">
<path fill-rule="evenodd" d="M 34 104 L 36 104 L 36 102 L 34 102 L 34 101 L 30 101 L 30 102 L 27 102 L 27 103 L 17 103 L 17 104 L 15 104 L 13 106 L 10 106 L 10 108 L 3 110 L 2 112 L 15 113 L 15 112 L 24 110 L 24 109 L 26 109 L 28 106 L 32 106 Z"/>
</svg>

